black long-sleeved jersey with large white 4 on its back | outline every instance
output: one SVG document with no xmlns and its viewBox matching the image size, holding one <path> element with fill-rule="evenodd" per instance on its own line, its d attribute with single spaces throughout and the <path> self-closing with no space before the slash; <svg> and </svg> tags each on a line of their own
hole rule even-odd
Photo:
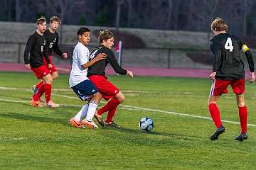
<svg viewBox="0 0 256 170">
<path fill-rule="evenodd" d="M 240 50 L 244 47 L 246 49 L 243 52 L 247 57 L 250 71 L 254 72 L 252 55 L 250 55 L 250 50 L 245 42 L 229 33 L 220 33 L 210 39 L 210 50 L 214 54 L 213 72 L 216 72 L 215 79 L 245 79 L 245 64 L 240 56 Z"/>
</svg>

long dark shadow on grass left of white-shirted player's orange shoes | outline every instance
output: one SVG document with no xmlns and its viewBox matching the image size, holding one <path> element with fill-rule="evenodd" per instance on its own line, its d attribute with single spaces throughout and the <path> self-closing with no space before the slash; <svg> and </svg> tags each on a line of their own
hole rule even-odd
<svg viewBox="0 0 256 170">
<path fill-rule="evenodd" d="M 14 118 L 14 119 L 19 119 L 19 120 L 37 121 L 37 122 L 42 122 L 42 123 L 60 123 L 65 126 L 70 126 L 67 123 L 67 120 L 63 120 L 60 118 L 46 118 L 46 117 L 40 117 L 40 116 L 23 115 L 23 114 L 18 114 L 18 113 L 6 113 L 6 114 L 1 113 L 0 117 Z"/>
</svg>

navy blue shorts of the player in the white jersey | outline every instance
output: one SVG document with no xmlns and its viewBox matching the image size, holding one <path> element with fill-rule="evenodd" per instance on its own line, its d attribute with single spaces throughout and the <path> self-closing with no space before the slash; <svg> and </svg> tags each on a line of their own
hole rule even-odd
<svg viewBox="0 0 256 170">
<path fill-rule="evenodd" d="M 92 84 L 92 81 L 89 79 L 82 81 L 71 88 L 82 101 L 92 98 L 92 96 L 98 92 L 96 86 Z"/>
</svg>

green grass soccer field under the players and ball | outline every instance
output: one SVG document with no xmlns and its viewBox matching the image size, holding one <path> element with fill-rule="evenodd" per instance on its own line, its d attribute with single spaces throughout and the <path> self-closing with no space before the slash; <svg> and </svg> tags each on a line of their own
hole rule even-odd
<svg viewBox="0 0 256 170">
<path fill-rule="evenodd" d="M 29 106 L 29 73 L 0 73 L 0 169 L 255 169 L 256 86 L 246 83 L 248 140 L 240 132 L 233 93 L 218 104 L 226 132 L 209 137 L 208 79 L 110 77 L 126 96 L 114 117 L 124 130 L 77 129 L 68 120 L 82 101 L 68 88 L 68 75 L 53 85 L 60 108 Z M 229 89 L 231 92 L 232 90 Z M 102 106 L 104 103 L 100 103 Z M 181 114 L 178 114 L 181 113 Z M 141 132 L 139 120 L 154 120 L 154 130 Z M 192 115 L 194 117 L 191 117 Z"/>
</svg>

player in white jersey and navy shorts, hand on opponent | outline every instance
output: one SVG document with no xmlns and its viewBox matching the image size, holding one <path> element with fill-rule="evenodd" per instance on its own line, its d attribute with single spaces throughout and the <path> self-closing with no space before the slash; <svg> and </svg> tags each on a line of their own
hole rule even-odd
<svg viewBox="0 0 256 170">
<path fill-rule="evenodd" d="M 90 30 L 88 28 L 80 28 L 78 30 L 78 44 L 75 45 L 73 52 L 73 64 L 70 72 L 69 84 L 70 88 L 82 100 L 89 103 L 82 106 L 82 109 L 75 117 L 70 119 L 70 124 L 75 128 L 84 128 L 84 125 L 94 129 L 97 125 L 92 121 L 96 108 L 102 96 L 92 82 L 87 78 L 87 67 L 105 59 L 106 55 L 100 53 L 89 62 L 90 52 L 86 47 L 90 42 Z M 82 120 L 83 117 L 86 118 Z"/>
</svg>

